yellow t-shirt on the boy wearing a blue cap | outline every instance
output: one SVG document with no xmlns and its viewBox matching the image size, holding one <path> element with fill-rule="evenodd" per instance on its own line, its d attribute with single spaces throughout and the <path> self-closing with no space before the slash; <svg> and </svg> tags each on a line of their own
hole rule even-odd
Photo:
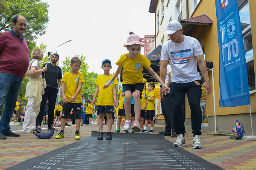
<svg viewBox="0 0 256 170">
<path fill-rule="evenodd" d="M 118 79 L 114 79 L 113 82 L 110 83 L 109 87 L 106 89 L 103 89 L 103 85 L 109 82 L 113 74 L 110 74 L 109 76 L 104 76 L 103 74 L 100 74 L 97 76 L 97 79 L 95 81 L 95 84 L 99 86 L 99 94 L 98 99 L 96 102 L 96 105 L 99 106 L 112 106 L 114 105 L 114 98 L 113 98 L 113 85 L 118 84 Z"/>
</svg>

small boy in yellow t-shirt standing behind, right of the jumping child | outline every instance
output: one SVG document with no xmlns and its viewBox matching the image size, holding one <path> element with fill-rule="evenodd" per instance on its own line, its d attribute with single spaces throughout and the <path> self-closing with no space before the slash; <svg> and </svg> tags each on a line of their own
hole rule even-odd
<svg viewBox="0 0 256 170">
<path fill-rule="evenodd" d="M 154 133 L 154 121 L 153 117 L 155 116 L 155 93 L 153 90 L 155 89 L 155 84 L 154 83 L 148 83 L 147 85 L 147 90 L 149 91 L 149 98 L 148 98 L 148 103 L 147 103 L 147 108 L 146 108 L 146 114 L 145 114 L 145 125 L 144 129 L 141 131 L 143 133 L 147 132 L 147 125 L 148 125 L 148 120 L 150 120 L 150 125 L 151 129 L 148 131 L 148 133 Z"/>
</svg>

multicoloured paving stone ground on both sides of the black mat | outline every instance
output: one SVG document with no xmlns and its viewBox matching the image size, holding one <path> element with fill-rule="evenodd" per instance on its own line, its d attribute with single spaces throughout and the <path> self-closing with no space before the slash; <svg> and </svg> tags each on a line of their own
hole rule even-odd
<svg viewBox="0 0 256 170">
<path fill-rule="evenodd" d="M 44 126 L 47 127 L 47 125 Z M 60 127 L 56 128 L 60 131 Z M 75 126 L 65 127 L 65 138 L 63 139 L 55 139 L 54 136 L 58 132 L 51 139 L 39 139 L 33 133 L 22 133 L 21 129 L 22 126 L 12 126 L 11 130 L 21 136 L 0 140 L 0 170 L 76 142 L 74 139 Z M 115 130 L 116 125 L 114 124 L 112 132 Z M 98 131 L 98 125 L 92 123 L 90 126 L 81 126 L 81 139 L 91 136 L 91 131 Z M 103 131 L 107 131 L 107 125 L 103 125 Z M 47 128 L 43 128 L 42 132 L 47 132 Z M 216 136 L 207 134 L 202 133 L 201 135 L 203 148 L 193 149 L 193 135 L 191 132 L 187 132 L 185 134 L 186 146 L 182 148 L 225 170 L 256 170 L 256 141 L 232 140 L 229 136 L 218 136 L 221 133 L 216 133 Z M 170 136 L 165 136 L 165 139 L 171 142 L 176 140 Z"/>
</svg>

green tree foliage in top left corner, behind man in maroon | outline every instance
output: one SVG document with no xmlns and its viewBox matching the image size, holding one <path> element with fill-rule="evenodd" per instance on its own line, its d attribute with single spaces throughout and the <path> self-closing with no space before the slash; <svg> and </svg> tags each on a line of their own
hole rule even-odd
<svg viewBox="0 0 256 170">
<path fill-rule="evenodd" d="M 23 34 L 29 47 L 29 56 L 36 47 L 38 35 L 46 32 L 49 21 L 49 4 L 41 0 L 0 0 L 0 33 L 12 29 L 12 19 L 16 15 L 26 18 L 27 27 Z"/>
</svg>

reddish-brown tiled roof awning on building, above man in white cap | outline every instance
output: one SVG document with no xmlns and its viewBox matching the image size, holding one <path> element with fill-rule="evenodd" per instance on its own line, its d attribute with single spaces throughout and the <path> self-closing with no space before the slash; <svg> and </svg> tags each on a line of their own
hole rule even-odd
<svg viewBox="0 0 256 170">
<path fill-rule="evenodd" d="M 200 34 L 196 35 L 195 37 L 197 40 L 203 35 L 203 33 L 205 33 L 205 31 L 213 23 L 213 21 L 206 14 L 203 14 L 197 17 L 191 17 L 191 18 L 179 20 L 179 22 L 182 25 L 183 34 L 191 37 L 194 37 L 192 33 L 197 26 L 203 27 L 203 28 L 200 28 L 202 29 Z"/>
</svg>

